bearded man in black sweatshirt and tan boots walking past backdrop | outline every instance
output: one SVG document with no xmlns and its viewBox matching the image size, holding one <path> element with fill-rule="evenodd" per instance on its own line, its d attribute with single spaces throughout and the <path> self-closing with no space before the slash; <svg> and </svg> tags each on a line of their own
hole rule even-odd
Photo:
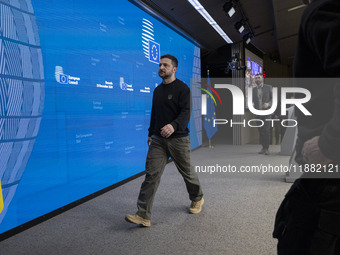
<svg viewBox="0 0 340 255">
<path fill-rule="evenodd" d="M 190 163 L 190 89 L 175 78 L 177 66 L 176 57 L 161 56 L 158 74 L 163 82 L 153 93 L 145 180 L 137 201 L 137 213 L 125 217 L 127 222 L 144 227 L 151 226 L 153 200 L 169 157 L 174 160 L 186 184 L 192 201 L 189 212 L 201 212 L 204 203 L 197 173 Z"/>
</svg>

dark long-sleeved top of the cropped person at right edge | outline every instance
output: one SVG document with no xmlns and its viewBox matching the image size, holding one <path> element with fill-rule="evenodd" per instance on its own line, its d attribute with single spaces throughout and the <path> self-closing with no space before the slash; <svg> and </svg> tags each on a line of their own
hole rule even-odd
<svg viewBox="0 0 340 255">
<path fill-rule="evenodd" d="M 306 9 L 299 31 L 298 49 L 294 63 L 298 85 L 311 92 L 305 107 L 312 116 L 297 112 L 297 155 L 305 141 L 320 136 L 322 153 L 340 162 L 340 1 L 315 0 Z M 297 157 L 297 161 L 299 158 Z"/>
</svg>

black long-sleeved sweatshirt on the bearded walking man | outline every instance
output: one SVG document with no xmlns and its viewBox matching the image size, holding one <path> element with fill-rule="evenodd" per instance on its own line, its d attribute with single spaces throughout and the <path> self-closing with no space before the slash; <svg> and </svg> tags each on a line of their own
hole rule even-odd
<svg viewBox="0 0 340 255">
<path fill-rule="evenodd" d="M 170 137 L 189 134 L 190 89 L 181 80 L 161 83 L 153 93 L 149 136 L 161 136 L 161 128 L 171 124 L 175 132 Z"/>
</svg>

